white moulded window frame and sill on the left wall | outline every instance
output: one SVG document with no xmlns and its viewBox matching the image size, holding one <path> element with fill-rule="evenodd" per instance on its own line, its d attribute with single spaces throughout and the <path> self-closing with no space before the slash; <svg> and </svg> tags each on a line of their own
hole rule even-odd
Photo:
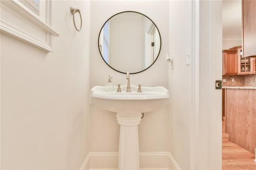
<svg viewBox="0 0 256 170">
<path fill-rule="evenodd" d="M 45 51 L 53 52 L 53 37 L 59 36 L 52 26 L 53 1 L 46 3 L 45 23 L 18 0 L 1 0 L 0 31 L 24 40 Z"/>
</svg>

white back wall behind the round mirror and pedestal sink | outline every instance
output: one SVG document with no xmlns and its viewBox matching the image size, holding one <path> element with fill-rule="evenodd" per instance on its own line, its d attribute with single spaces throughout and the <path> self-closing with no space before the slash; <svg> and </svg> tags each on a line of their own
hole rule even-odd
<svg viewBox="0 0 256 170">
<path fill-rule="evenodd" d="M 118 73 L 104 63 L 98 51 L 98 34 L 108 18 L 118 12 L 132 10 L 151 18 L 160 31 L 162 48 L 154 65 L 142 73 L 130 75 L 132 85 L 163 86 L 168 88 L 168 17 L 169 1 L 91 1 L 90 88 L 105 86 L 108 75 L 114 85 L 126 85 L 126 75 Z M 121 63 L 122 64 L 122 63 Z M 90 106 L 90 151 L 117 152 L 119 125 L 115 113 Z M 141 152 L 168 151 L 168 107 L 145 113 L 139 127 Z"/>
</svg>

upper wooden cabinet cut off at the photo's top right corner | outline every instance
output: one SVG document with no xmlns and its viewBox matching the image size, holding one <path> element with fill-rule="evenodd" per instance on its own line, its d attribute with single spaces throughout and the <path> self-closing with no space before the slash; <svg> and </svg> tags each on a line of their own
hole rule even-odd
<svg viewBox="0 0 256 170">
<path fill-rule="evenodd" d="M 242 51 L 256 57 L 256 0 L 242 0 Z"/>
</svg>

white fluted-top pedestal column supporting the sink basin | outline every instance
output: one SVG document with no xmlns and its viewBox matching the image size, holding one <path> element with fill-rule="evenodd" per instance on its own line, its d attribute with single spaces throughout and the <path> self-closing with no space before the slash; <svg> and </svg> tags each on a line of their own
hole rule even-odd
<svg viewBox="0 0 256 170">
<path fill-rule="evenodd" d="M 141 113 L 117 113 L 116 117 L 120 125 L 118 169 L 139 170 L 138 124 Z"/>
</svg>

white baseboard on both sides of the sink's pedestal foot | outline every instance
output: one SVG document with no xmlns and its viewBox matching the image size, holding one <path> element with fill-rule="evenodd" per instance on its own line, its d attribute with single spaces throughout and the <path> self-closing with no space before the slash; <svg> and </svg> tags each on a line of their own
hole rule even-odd
<svg viewBox="0 0 256 170">
<path fill-rule="evenodd" d="M 118 152 L 89 152 L 80 170 L 118 170 Z M 180 170 L 170 152 L 140 152 L 140 170 Z"/>
</svg>

